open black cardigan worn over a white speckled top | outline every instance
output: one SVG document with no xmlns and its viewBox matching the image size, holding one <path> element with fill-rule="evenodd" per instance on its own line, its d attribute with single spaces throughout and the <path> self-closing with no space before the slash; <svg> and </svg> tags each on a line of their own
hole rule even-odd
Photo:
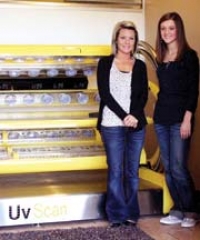
<svg viewBox="0 0 200 240">
<path fill-rule="evenodd" d="M 138 119 L 138 126 L 133 130 L 139 130 L 143 128 L 147 123 L 144 113 L 144 107 L 148 99 L 148 80 L 146 65 L 142 60 L 136 59 L 135 61 L 131 77 L 130 111 L 126 112 L 113 98 L 110 92 L 110 69 L 112 67 L 113 60 L 114 56 L 110 55 L 101 58 L 98 63 L 97 85 L 101 101 L 99 106 L 97 129 L 100 130 L 103 108 L 104 106 L 107 106 L 121 120 L 123 120 L 128 114 L 136 117 Z"/>
</svg>

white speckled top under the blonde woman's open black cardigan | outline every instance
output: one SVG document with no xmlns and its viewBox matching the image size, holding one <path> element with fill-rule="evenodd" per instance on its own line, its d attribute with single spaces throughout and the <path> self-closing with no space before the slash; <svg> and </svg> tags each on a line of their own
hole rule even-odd
<svg viewBox="0 0 200 240">
<path fill-rule="evenodd" d="M 110 93 L 119 105 L 130 112 L 132 72 L 121 72 L 113 63 L 110 70 Z M 123 121 L 107 106 L 103 109 L 101 125 L 104 127 L 124 126 Z"/>
</svg>

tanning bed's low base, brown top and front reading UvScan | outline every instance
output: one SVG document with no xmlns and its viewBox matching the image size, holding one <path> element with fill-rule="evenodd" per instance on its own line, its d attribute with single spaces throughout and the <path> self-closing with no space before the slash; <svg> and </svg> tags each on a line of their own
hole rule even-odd
<svg viewBox="0 0 200 240">
<path fill-rule="evenodd" d="M 0 227 L 105 219 L 106 171 L 1 175 Z M 141 216 L 162 214 L 162 189 L 141 180 Z"/>
</svg>

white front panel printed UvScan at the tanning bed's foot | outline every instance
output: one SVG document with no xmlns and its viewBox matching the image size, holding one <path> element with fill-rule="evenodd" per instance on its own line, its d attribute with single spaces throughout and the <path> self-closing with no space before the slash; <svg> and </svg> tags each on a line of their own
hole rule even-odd
<svg viewBox="0 0 200 240">
<path fill-rule="evenodd" d="M 99 199 L 86 194 L 3 199 L 0 226 L 98 219 Z"/>
</svg>

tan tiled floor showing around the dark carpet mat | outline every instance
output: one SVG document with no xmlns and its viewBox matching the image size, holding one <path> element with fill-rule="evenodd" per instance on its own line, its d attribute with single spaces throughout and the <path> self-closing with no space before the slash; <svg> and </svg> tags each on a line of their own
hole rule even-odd
<svg viewBox="0 0 200 240">
<path fill-rule="evenodd" d="M 0 232 L 13 232 L 23 230 L 47 230 L 52 228 L 74 228 L 88 226 L 108 226 L 107 221 L 80 221 L 62 224 L 47 224 L 32 227 L 2 228 Z M 159 223 L 159 217 L 142 217 L 138 223 L 140 229 L 155 240 L 200 240 L 200 222 L 194 228 L 181 228 L 180 225 L 166 226 Z"/>
</svg>

